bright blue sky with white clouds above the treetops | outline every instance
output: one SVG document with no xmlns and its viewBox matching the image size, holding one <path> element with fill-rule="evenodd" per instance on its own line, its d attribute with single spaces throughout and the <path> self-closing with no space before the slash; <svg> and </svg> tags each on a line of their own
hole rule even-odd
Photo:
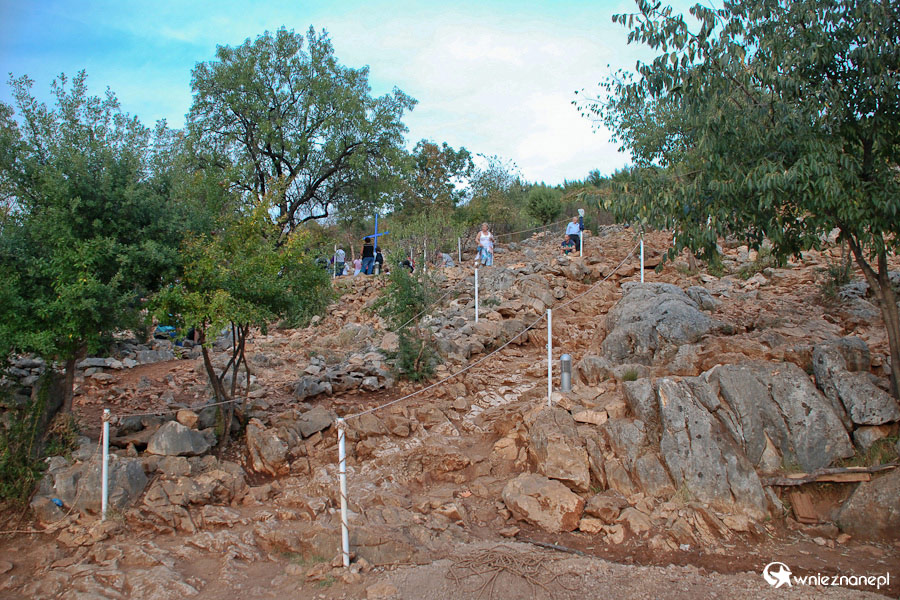
<svg viewBox="0 0 900 600">
<path fill-rule="evenodd" d="M 632 0 L 0 0 L 0 101 L 11 103 L 10 73 L 34 79 L 47 100 L 55 76 L 85 69 L 92 93 L 108 87 L 145 124 L 178 128 L 191 71 L 216 46 L 312 25 L 342 64 L 369 66 L 373 95 L 398 87 L 418 101 L 404 118 L 410 148 L 420 139 L 464 146 L 512 161 L 528 181 L 559 184 L 629 163 L 572 100 L 652 58 L 612 23 L 633 11 Z"/>
</svg>

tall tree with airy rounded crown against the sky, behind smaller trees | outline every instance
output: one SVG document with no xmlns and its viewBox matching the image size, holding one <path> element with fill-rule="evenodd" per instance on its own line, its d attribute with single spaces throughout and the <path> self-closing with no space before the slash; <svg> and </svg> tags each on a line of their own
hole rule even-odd
<svg viewBox="0 0 900 600">
<path fill-rule="evenodd" d="M 292 231 L 377 204 L 395 183 L 401 119 L 415 100 L 396 88 L 372 98 L 368 76 L 338 63 L 324 31 L 267 31 L 194 68 L 189 128 L 233 189 L 275 193 L 279 224 Z"/>
</svg>

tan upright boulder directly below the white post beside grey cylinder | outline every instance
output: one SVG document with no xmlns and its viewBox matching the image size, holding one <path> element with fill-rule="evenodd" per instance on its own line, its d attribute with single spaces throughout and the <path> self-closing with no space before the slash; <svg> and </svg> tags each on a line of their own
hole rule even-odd
<svg viewBox="0 0 900 600">
<path fill-rule="evenodd" d="M 587 450 L 575 420 L 559 407 L 545 407 L 528 426 L 528 452 L 543 475 L 586 492 L 591 485 Z"/>
</svg>

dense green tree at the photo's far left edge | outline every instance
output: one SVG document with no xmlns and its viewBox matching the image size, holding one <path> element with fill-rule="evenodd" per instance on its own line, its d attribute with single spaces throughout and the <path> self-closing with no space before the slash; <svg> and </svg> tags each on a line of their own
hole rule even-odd
<svg viewBox="0 0 900 600">
<path fill-rule="evenodd" d="M 164 126 L 154 136 L 112 92 L 90 96 L 83 71 L 53 82 L 53 107 L 32 85 L 10 79 L 17 116 L 0 104 L 0 351 L 64 362 L 70 411 L 77 359 L 136 322 L 178 264 L 184 219 L 154 176 Z"/>
</svg>

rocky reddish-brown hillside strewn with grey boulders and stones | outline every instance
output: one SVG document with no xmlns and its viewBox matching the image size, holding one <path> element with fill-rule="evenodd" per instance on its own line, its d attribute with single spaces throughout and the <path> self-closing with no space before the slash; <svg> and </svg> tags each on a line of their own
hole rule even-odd
<svg viewBox="0 0 900 600">
<path fill-rule="evenodd" d="M 646 238 L 648 267 L 669 243 Z M 10 526 L 27 533 L 0 543 L 0 593 L 244 598 L 309 586 L 324 597 L 427 597 L 410 591 L 418 578 L 442 597 L 440 573 L 456 578 L 453 593 L 483 597 L 467 579 L 473 552 L 508 585 L 602 593 L 541 544 L 752 571 L 703 579 L 735 598 L 781 597 L 759 573 L 784 557 L 795 574 L 898 564 L 900 406 L 865 285 L 824 291 L 839 247 L 776 268 L 724 244 L 721 276 L 679 260 L 640 283 L 629 229 L 587 237 L 584 258 L 557 244 L 501 246 L 479 270 L 478 323 L 471 263 L 436 273 L 447 293 L 423 324 L 443 362 L 424 385 L 398 380 L 382 352 L 397 344 L 369 310 L 384 281 L 337 280 L 341 298 L 324 318 L 254 337 L 240 435 L 224 456 L 211 450 L 222 425 L 194 349 L 123 342 L 117 356 L 85 361 L 76 407 L 87 435 L 72 456 L 50 459 L 35 522 Z M 227 340 L 220 349 L 224 363 Z M 567 393 L 563 353 L 575 363 Z M 17 368 L 27 393 L 43 365 Z M 101 523 L 103 408 L 116 451 L 114 511 Z M 349 572 L 333 560 L 337 416 L 349 442 Z M 515 542 L 498 549 L 503 540 Z M 609 573 L 604 564 L 593 570 Z M 653 577 L 693 577 L 673 568 L 641 575 L 634 597 L 674 591 Z"/>
</svg>

